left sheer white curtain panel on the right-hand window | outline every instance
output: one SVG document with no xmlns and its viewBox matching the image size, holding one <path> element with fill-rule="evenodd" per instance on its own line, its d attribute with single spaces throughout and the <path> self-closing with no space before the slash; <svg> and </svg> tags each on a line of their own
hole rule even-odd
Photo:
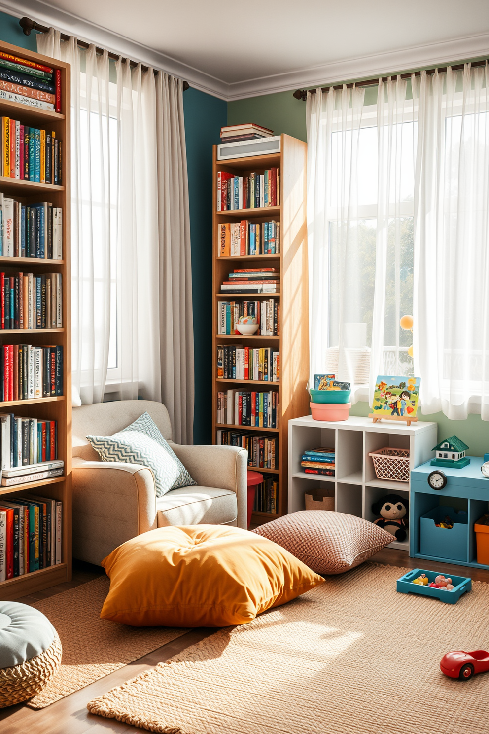
<svg viewBox="0 0 489 734">
<path fill-rule="evenodd" d="M 352 399 L 378 374 L 409 374 L 413 101 L 380 82 L 307 95 L 310 373 L 334 371 Z M 370 95 L 372 96 L 372 95 Z M 364 385 L 363 388 L 360 385 Z"/>
</svg>

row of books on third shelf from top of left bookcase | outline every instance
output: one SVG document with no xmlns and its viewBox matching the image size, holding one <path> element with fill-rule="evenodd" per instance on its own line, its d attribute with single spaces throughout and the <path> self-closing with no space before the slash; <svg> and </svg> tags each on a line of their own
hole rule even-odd
<svg viewBox="0 0 489 734">
<path fill-rule="evenodd" d="M 0 254 L 62 260 L 62 208 L 48 201 L 23 204 L 0 193 Z"/>
</svg>

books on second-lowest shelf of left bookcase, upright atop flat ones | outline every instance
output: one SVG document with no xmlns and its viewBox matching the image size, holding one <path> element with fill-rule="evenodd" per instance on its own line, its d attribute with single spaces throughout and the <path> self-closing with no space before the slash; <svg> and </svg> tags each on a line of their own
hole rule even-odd
<svg viewBox="0 0 489 734">
<path fill-rule="evenodd" d="M 58 466 L 37 470 L 32 465 L 41 462 L 54 462 L 58 451 L 57 421 L 45 421 L 43 418 L 26 418 L 13 413 L 0 413 L 0 448 L 1 448 L 1 484 L 37 481 L 32 479 L 35 473 L 59 471 Z M 21 468 L 21 471 L 10 473 L 9 470 Z M 62 472 L 61 472 L 62 473 Z M 48 479 L 48 475 L 44 479 Z M 30 479 L 24 479 L 31 477 Z M 16 481 L 10 481 L 15 479 Z"/>
</svg>

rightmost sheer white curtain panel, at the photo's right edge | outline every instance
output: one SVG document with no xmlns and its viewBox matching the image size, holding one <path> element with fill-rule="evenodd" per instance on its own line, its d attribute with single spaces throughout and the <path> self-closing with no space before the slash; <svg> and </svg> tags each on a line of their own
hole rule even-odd
<svg viewBox="0 0 489 734">
<path fill-rule="evenodd" d="M 422 73 L 414 357 L 423 413 L 489 420 L 489 71 Z"/>
</svg>

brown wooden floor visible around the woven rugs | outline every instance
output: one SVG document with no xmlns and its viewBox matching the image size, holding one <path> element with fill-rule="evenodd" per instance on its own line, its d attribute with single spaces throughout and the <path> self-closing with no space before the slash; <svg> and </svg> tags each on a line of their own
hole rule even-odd
<svg viewBox="0 0 489 734">
<path fill-rule="evenodd" d="M 419 567 L 417 559 L 409 558 L 407 551 L 398 551 L 385 548 L 373 556 L 372 561 L 389 566 L 416 568 Z M 422 566 L 427 570 L 437 570 L 445 575 L 463 575 L 463 566 L 423 561 Z M 37 600 L 45 599 L 54 594 L 59 594 L 66 589 L 73 589 L 79 584 L 85 584 L 96 578 L 103 569 L 89 564 L 73 564 L 73 580 L 67 584 L 59 584 L 51 589 L 38 592 L 29 597 L 18 599 L 25 604 L 32 604 Z M 474 581 L 485 581 L 489 583 L 489 571 L 478 568 L 469 568 L 467 575 Z M 0 711 L 0 733 L 1 734 L 109 734 L 110 732 L 142 732 L 144 730 L 128 724 L 122 724 L 115 719 L 103 719 L 101 716 L 93 716 L 87 711 L 87 703 L 93 698 L 100 696 L 114 686 L 120 686 L 126 680 L 139 675 L 139 673 L 152 669 L 156 664 L 177 655 L 185 647 L 189 647 L 199 640 L 215 632 L 215 629 L 196 629 L 182 637 L 169 642 L 158 650 L 144 655 L 144 658 L 130 663 L 128 666 L 117 670 L 111 675 L 95 681 L 86 688 L 57 701 L 40 711 L 33 711 L 26 705 L 20 704 Z"/>
</svg>

